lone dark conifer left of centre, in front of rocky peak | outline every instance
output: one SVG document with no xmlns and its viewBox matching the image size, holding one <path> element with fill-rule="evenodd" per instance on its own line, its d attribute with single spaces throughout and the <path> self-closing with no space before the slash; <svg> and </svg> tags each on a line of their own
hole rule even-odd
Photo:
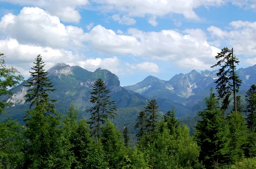
<svg viewBox="0 0 256 169">
<path fill-rule="evenodd" d="M 107 89 L 102 79 L 94 82 L 92 87 L 90 102 L 96 104 L 86 112 L 91 113 L 90 128 L 93 129 L 93 135 L 96 136 L 96 141 L 98 141 L 101 124 L 104 124 L 108 118 L 114 118 L 117 106 L 115 105 L 116 101 L 110 101 L 111 96 L 108 94 L 111 91 Z"/>
</svg>

